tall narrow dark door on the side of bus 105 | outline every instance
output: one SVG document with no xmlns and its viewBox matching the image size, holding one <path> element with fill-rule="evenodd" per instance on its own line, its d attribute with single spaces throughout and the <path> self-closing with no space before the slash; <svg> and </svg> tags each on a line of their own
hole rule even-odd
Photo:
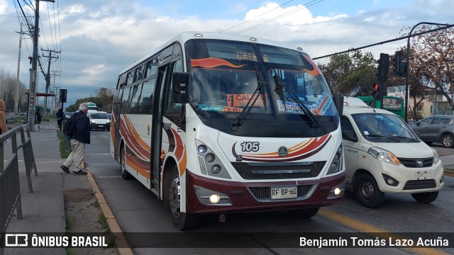
<svg viewBox="0 0 454 255">
<path fill-rule="evenodd" d="M 165 81 L 170 65 L 162 66 L 157 71 L 156 88 L 153 100 L 153 117 L 151 128 L 151 171 L 150 181 L 152 188 L 160 193 L 160 167 L 161 167 L 161 142 L 162 142 L 162 114 L 164 112 Z"/>
</svg>

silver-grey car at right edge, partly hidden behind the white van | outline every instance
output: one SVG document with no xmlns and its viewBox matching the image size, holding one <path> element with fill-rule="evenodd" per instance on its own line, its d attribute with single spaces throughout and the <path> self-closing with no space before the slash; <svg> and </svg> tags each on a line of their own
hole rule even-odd
<svg viewBox="0 0 454 255">
<path fill-rule="evenodd" d="M 432 142 L 440 142 L 447 148 L 454 145 L 454 116 L 433 115 L 409 126 L 428 145 Z"/>
</svg>

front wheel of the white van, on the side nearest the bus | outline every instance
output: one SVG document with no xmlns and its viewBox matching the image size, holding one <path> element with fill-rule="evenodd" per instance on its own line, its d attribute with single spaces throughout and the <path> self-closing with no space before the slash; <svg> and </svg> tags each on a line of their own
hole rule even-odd
<svg viewBox="0 0 454 255">
<path fill-rule="evenodd" d="M 360 174 L 355 181 L 355 195 L 360 205 L 367 208 L 377 208 L 383 203 L 384 193 L 380 191 L 374 177 L 370 174 Z"/>
</svg>

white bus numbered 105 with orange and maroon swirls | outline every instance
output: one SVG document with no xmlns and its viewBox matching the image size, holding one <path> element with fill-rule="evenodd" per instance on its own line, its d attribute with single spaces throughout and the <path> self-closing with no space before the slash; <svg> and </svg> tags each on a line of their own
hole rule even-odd
<svg viewBox="0 0 454 255">
<path fill-rule="evenodd" d="M 343 200 L 338 98 L 300 47 L 181 33 L 119 74 L 111 154 L 179 229 L 207 213 L 312 217 Z"/>
</svg>

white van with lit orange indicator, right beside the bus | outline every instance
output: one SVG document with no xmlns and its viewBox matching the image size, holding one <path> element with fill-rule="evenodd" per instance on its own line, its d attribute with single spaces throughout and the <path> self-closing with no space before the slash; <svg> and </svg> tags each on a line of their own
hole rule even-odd
<svg viewBox="0 0 454 255">
<path fill-rule="evenodd" d="M 443 187 L 441 160 L 398 115 L 344 97 L 341 128 L 345 183 L 361 205 L 377 208 L 384 193 L 436 200 Z"/>
</svg>

